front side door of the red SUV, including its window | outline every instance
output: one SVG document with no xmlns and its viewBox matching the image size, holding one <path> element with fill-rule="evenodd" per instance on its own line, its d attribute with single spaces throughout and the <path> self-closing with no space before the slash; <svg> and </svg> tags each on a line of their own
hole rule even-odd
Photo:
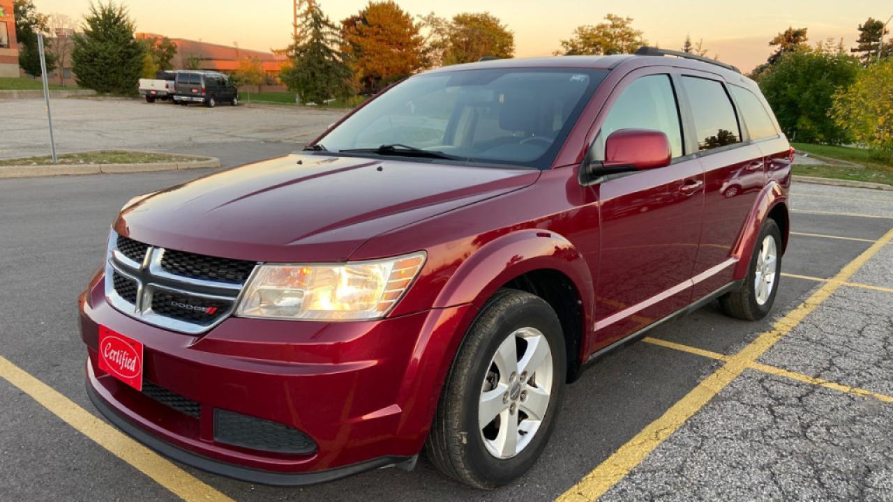
<svg viewBox="0 0 893 502">
<path fill-rule="evenodd" d="M 644 74 L 643 74 L 644 73 Z M 652 68 L 622 81 L 592 148 L 604 159 L 605 138 L 622 129 L 663 131 L 672 146 L 666 167 L 605 180 L 596 292 L 596 349 L 688 305 L 704 205 L 704 174 L 686 145 L 677 89 Z"/>
</svg>

